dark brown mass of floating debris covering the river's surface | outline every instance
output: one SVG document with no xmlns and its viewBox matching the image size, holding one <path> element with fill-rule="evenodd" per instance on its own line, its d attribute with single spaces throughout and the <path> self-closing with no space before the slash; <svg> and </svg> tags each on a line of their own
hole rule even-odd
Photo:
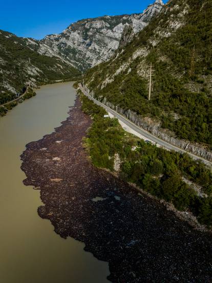
<svg viewBox="0 0 212 283">
<path fill-rule="evenodd" d="M 22 154 L 24 183 L 44 203 L 40 217 L 108 261 L 112 282 L 210 282 L 211 235 L 95 168 L 82 146 L 92 121 L 80 108 L 77 98 L 67 120 Z"/>
</svg>

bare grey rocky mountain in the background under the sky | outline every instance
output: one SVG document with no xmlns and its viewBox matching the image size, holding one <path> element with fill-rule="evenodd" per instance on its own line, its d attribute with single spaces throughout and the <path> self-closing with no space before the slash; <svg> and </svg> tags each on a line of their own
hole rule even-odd
<svg viewBox="0 0 212 283">
<path fill-rule="evenodd" d="M 82 19 L 62 33 L 47 35 L 41 41 L 25 38 L 25 45 L 39 54 L 59 57 L 84 71 L 115 53 L 127 25 L 132 26 L 135 34 L 138 33 L 163 6 L 161 0 L 156 0 L 140 14 Z"/>
</svg>

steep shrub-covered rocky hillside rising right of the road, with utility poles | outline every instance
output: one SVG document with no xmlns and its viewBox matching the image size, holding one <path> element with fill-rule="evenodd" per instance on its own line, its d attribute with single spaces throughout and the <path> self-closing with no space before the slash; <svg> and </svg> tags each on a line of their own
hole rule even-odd
<svg viewBox="0 0 212 283">
<path fill-rule="evenodd" d="M 95 67 L 86 76 L 96 97 L 155 135 L 209 159 L 211 17 L 210 1 L 171 0 L 131 44 L 100 65 L 100 73 Z M 148 100 L 151 62 L 153 91 Z"/>
</svg>

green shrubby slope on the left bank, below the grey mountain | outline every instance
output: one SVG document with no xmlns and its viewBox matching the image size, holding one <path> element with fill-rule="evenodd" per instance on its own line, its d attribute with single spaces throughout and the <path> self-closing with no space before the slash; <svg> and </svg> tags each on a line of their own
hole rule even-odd
<svg viewBox="0 0 212 283">
<path fill-rule="evenodd" d="M 56 57 L 40 55 L 23 46 L 23 39 L 0 30 L 0 105 L 16 97 L 27 85 L 73 78 L 74 67 Z"/>
</svg>

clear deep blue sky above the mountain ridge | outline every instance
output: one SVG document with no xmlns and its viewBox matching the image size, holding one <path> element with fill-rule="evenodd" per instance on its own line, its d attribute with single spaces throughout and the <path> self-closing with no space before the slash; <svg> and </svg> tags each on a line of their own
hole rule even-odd
<svg viewBox="0 0 212 283">
<path fill-rule="evenodd" d="M 140 13 L 154 1 L 1 0 L 0 29 L 40 39 L 47 34 L 60 33 L 82 18 Z"/>
</svg>

